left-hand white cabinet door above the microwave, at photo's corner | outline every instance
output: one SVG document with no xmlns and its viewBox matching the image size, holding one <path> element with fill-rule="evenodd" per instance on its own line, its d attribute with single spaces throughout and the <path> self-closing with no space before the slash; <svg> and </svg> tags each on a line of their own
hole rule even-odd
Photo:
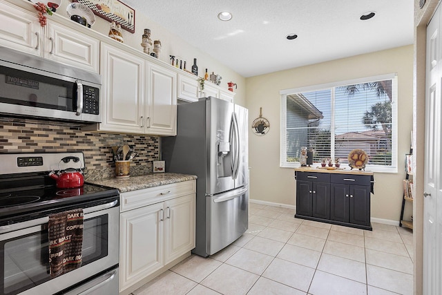
<svg viewBox="0 0 442 295">
<path fill-rule="evenodd" d="M 41 56 L 43 29 L 35 14 L 0 3 L 0 45 Z"/>
</svg>

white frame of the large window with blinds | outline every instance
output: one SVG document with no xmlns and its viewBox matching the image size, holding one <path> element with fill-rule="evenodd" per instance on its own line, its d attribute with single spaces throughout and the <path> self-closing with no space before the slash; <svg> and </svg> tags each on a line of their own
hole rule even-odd
<svg viewBox="0 0 442 295">
<path fill-rule="evenodd" d="M 283 89 L 280 91 L 280 167 L 281 168 L 298 168 L 300 167 L 299 162 L 287 162 L 287 95 L 292 95 L 294 93 L 305 93 L 312 91 L 324 91 L 331 90 L 332 96 L 332 118 L 331 118 L 331 128 L 334 130 L 334 101 L 335 101 L 335 88 L 345 85 L 363 84 L 367 82 L 375 82 L 391 79 L 392 80 L 392 164 L 391 166 L 373 165 L 367 164 L 365 169 L 373 172 L 383 172 L 383 173 L 397 173 L 398 172 L 398 78 L 396 73 L 376 75 L 372 77 L 363 77 L 357 79 L 349 79 L 345 81 L 332 82 L 327 84 L 317 84 L 311 86 L 303 86 L 298 88 Z M 334 157 L 334 136 L 331 137 L 332 144 L 332 155 Z M 319 163 L 314 163 L 313 166 L 320 166 Z"/>
</svg>

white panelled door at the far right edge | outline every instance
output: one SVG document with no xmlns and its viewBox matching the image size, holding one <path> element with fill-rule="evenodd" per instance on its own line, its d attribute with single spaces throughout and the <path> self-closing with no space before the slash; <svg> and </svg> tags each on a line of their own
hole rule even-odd
<svg viewBox="0 0 442 295">
<path fill-rule="evenodd" d="M 441 23 L 440 7 L 427 26 L 425 170 L 423 200 L 423 294 L 441 294 Z"/>
</svg>

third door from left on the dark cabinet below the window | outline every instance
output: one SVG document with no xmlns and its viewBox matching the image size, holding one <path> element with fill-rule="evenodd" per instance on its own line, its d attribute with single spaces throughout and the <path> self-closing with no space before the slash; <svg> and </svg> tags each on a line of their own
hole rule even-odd
<svg viewBox="0 0 442 295">
<path fill-rule="evenodd" d="M 349 221 L 349 187 L 347 184 L 332 184 L 330 219 L 342 222 Z"/>
</svg>

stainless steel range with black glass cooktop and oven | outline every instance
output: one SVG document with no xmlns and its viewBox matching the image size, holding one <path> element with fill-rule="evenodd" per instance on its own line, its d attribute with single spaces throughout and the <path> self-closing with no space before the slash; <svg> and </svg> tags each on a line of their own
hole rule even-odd
<svg viewBox="0 0 442 295">
<path fill-rule="evenodd" d="M 0 294 L 118 294 L 118 191 L 93 184 L 57 189 L 47 171 L 35 172 L 68 155 L 82 153 L 0 154 L 10 171 L 38 163 L 23 166 L 34 172 L 0 175 Z M 17 166 L 8 169 L 11 159 Z M 78 208 L 84 213 L 81 266 L 52 278 L 49 216 Z"/>
</svg>

